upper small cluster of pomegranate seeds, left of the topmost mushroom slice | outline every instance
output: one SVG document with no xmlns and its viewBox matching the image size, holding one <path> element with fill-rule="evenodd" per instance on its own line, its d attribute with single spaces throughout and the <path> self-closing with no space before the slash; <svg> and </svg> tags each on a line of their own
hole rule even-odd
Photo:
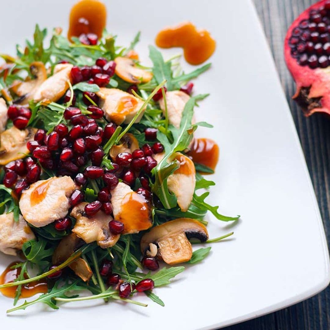
<svg viewBox="0 0 330 330">
<path fill-rule="evenodd" d="M 86 39 L 87 37 L 88 35 L 86 36 Z M 115 74 L 115 69 L 115 61 L 108 61 L 107 59 L 100 57 L 95 61 L 95 65 L 83 66 L 81 68 L 74 66 L 71 69 L 71 79 L 74 84 L 87 81 L 88 83 L 95 83 L 100 87 L 104 87 L 110 82 L 110 78 Z M 85 95 L 97 103 L 98 97 L 95 93 L 83 92 L 83 96 Z M 83 102 L 87 105 L 91 104 L 86 97 L 83 97 Z"/>
</svg>

